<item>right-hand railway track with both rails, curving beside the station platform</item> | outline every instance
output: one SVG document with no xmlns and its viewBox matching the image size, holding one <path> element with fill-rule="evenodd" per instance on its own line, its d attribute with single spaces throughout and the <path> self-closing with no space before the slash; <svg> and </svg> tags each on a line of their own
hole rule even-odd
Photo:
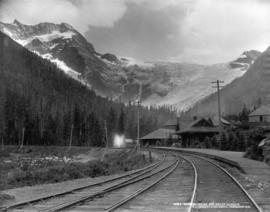
<svg viewBox="0 0 270 212">
<path fill-rule="evenodd" d="M 194 170 L 188 212 L 258 211 L 262 209 L 245 188 L 217 162 L 193 154 L 179 154 Z"/>
</svg>

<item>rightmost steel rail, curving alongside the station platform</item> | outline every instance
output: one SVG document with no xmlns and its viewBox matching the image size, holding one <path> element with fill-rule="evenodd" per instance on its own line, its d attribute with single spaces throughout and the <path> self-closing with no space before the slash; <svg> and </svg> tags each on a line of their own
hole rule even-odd
<svg viewBox="0 0 270 212">
<path fill-rule="evenodd" d="M 263 210 L 260 208 L 260 206 L 256 203 L 256 201 L 253 199 L 253 197 L 247 192 L 247 190 L 241 185 L 241 183 L 231 174 L 229 173 L 225 168 L 223 168 L 222 166 L 220 166 L 219 164 L 209 160 L 209 159 L 206 159 L 202 156 L 198 156 L 198 155 L 195 155 L 195 154 L 192 154 L 192 153 L 184 153 L 186 155 L 192 155 L 192 156 L 195 156 L 195 157 L 198 157 L 202 160 L 205 160 L 209 163 L 211 163 L 212 165 L 216 166 L 218 169 L 222 170 L 227 176 L 229 176 L 233 182 L 240 188 L 240 190 L 245 194 L 245 196 L 250 200 L 250 202 L 252 203 L 252 205 L 256 208 L 257 211 L 259 212 L 263 212 Z"/>
</svg>

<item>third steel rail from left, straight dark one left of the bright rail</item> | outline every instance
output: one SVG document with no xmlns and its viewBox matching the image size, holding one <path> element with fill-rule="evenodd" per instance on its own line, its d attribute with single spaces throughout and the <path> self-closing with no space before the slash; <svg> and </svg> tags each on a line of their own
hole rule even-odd
<svg viewBox="0 0 270 212">
<path fill-rule="evenodd" d="M 143 192 L 149 190 L 150 188 L 152 188 L 153 186 L 155 186 L 156 184 L 158 184 L 160 181 L 162 181 L 163 179 L 165 179 L 167 176 L 169 176 L 177 168 L 178 165 L 179 165 L 179 160 L 177 160 L 177 162 L 175 163 L 175 165 L 174 165 L 174 167 L 172 169 L 170 169 L 167 173 L 165 173 L 160 178 L 158 178 L 157 180 L 155 180 L 153 183 L 151 183 L 150 185 L 148 185 L 145 188 L 142 188 L 142 189 L 139 189 L 139 190 L 135 191 L 134 193 L 132 193 L 128 197 L 126 197 L 126 198 L 124 198 L 124 199 L 122 199 L 122 200 L 114 203 L 113 205 L 105 208 L 105 210 L 108 211 L 108 212 L 114 211 L 115 209 L 117 209 L 120 206 L 126 204 L 130 200 L 136 198 L 137 196 L 139 196 Z"/>
</svg>

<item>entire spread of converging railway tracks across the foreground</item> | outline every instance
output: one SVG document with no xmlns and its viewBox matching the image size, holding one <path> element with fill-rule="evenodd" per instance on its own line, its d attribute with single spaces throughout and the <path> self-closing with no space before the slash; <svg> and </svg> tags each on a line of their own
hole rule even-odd
<svg viewBox="0 0 270 212">
<path fill-rule="evenodd" d="M 162 161 L 131 174 L 5 208 L 16 212 L 114 210 L 262 212 L 217 162 L 177 152 L 167 152 Z"/>
</svg>

